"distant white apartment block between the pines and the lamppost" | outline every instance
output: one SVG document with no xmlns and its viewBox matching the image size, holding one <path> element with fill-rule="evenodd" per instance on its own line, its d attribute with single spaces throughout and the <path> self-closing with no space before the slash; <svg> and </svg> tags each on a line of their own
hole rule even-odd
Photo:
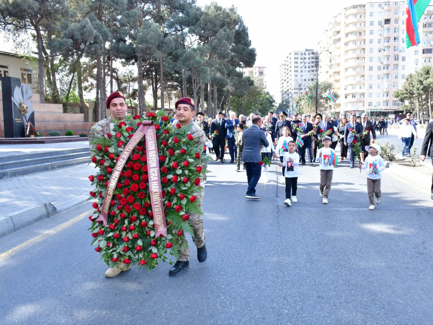
<svg viewBox="0 0 433 325">
<path fill-rule="evenodd" d="M 317 78 L 317 50 L 291 51 L 280 65 L 281 101 L 292 104 L 292 99 L 308 89 Z"/>
</svg>

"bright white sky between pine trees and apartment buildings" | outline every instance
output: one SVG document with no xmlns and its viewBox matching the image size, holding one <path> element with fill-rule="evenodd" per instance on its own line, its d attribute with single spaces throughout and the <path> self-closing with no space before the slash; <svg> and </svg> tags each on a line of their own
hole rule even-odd
<svg viewBox="0 0 433 325">
<path fill-rule="evenodd" d="M 200 7 L 210 0 L 196 0 Z M 355 0 L 215 0 L 221 7 L 237 8 L 256 49 L 255 66 L 266 67 L 268 92 L 280 102 L 279 66 L 292 50 L 317 49 L 333 16 L 366 1 Z"/>
</svg>

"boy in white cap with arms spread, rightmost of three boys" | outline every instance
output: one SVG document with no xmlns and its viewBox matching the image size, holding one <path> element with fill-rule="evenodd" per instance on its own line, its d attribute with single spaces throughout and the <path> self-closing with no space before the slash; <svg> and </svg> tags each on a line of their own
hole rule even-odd
<svg viewBox="0 0 433 325">
<path fill-rule="evenodd" d="M 382 157 L 378 155 L 380 154 L 378 144 L 373 143 L 370 146 L 365 146 L 365 150 L 368 151 L 368 156 L 365 158 L 364 164 L 359 164 L 358 168 L 367 169 L 367 193 L 370 201 L 368 210 L 375 210 L 374 198 L 376 197 L 376 204 L 380 204 L 382 201 L 381 171 L 384 171 L 386 166 Z"/>
</svg>

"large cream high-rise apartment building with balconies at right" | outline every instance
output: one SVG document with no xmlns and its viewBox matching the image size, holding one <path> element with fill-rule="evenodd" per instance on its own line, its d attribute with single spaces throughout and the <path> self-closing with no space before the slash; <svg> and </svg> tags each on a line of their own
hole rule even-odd
<svg viewBox="0 0 433 325">
<path fill-rule="evenodd" d="M 332 18 L 319 49 L 333 55 L 331 69 L 319 62 L 319 80 L 333 82 L 339 94 L 328 112 L 378 116 L 401 111 L 404 103 L 393 92 L 402 87 L 407 74 L 432 64 L 433 55 L 433 7 L 418 24 L 421 43 L 406 49 L 405 3 L 353 5 Z"/>
</svg>

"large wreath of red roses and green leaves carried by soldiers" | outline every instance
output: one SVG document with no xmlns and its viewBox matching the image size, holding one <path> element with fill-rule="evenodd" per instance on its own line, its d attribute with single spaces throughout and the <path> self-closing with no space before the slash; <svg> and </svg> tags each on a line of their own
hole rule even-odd
<svg viewBox="0 0 433 325">
<path fill-rule="evenodd" d="M 89 230 L 94 237 L 96 251 L 104 261 L 115 266 L 119 263 L 139 264 L 153 269 L 158 260 L 167 259 L 170 254 L 178 257 L 180 240 L 185 233 L 193 234 L 188 218 L 191 213 L 202 213 L 196 202 L 200 177 L 205 168 L 201 167 L 203 145 L 189 135 L 191 125 L 181 128 L 170 125 L 163 112 L 148 113 L 145 120 L 155 121 L 158 146 L 161 189 L 167 236 L 155 238 L 155 227 L 149 194 L 149 176 L 145 138 L 142 138 L 126 161 L 120 173 L 108 211 L 107 225 L 96 221 L 108 181 L 113 168 L 129 139 L 144 120 L 139 115 L 120 122 L 111 130 L 107 138 L 97 138 L 90 142 L 96 150 L 92 161 L 99 167 L 96 175 L 89 179 L 95 188 L 90 196 L 95 198 L 94 214 L 89 217 L 92 226 Z M 162 121 L 162 126 L 159 122 Z"/>
</svg>

